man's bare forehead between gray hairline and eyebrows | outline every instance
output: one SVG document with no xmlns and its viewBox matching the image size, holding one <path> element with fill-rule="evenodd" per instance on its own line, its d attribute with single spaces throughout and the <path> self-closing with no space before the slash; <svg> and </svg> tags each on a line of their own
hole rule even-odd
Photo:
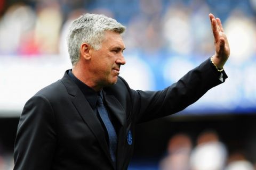
<svg viewBox="0 0 256 170">
<path fill-rule="evenodd" d="M 120 33 L 113 31 L 106 31 L 102 41 L 102 47 L 119 47 L 125 48 L 123 38 Z"/>
</svg>

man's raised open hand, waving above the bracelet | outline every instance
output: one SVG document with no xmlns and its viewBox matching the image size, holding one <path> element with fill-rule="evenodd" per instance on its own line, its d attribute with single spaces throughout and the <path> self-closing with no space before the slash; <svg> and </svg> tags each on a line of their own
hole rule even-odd
<svg viewBox="0 0 256 170">
<path fill-rule="evenodd" d="M 209 14 L 209 18 L 212 25 L 215 45 L 215 54 L 212 57 L 212 61 L 219 69 L 222 69 L 230 54 L 228 39 L 224 33 L 220 19 L 215 18 L 213 14 Z"/>
</svg>

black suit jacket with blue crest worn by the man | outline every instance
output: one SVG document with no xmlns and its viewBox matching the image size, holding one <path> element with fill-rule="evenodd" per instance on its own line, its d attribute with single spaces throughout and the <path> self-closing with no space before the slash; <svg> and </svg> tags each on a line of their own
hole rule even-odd
<svg viewBox="0 0 256 170">
<path fill-rule="evenodd" d="M 223 77 L 227 78 L 225 72 Z M 103 88 L 106 105 L 118 120 L 116 169 L 129 165 L 135 124 L 179 112 L 220 83 L 207 60 L 162 91 L 132 90 L 121 77 L 114 86 Z M 14 169 L 114 169 L 104 134 L 82 91 L 66 72 L 23 108 Z"/>
</svg>

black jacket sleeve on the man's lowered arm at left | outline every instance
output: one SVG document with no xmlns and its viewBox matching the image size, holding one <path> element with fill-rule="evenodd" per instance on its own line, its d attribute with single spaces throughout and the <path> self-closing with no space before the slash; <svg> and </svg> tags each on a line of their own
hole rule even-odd
<svg viewBox="0 0 256 170">
<path fill-rule="evenodd" d="M 14 144 L 14 169 L 51 169 L 56 146 L 55 118 L 49 101 L 36 95 L 23 108 Z"/>
</svg>

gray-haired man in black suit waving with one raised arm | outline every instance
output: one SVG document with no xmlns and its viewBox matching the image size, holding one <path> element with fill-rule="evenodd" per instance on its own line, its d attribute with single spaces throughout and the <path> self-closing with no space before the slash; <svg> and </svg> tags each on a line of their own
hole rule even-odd
<svg viewBox="0 0 256 170">
<path fill-rule="evenodd" d="M 27 101 L 14 169 L 127 169 L 135 124 L 181 111 L 227 78 L 228 41 L 220 19 L 209 16 L 215 55 L 162 91 L 135 91 L 118 77 L 122 24 L 96 14 L 76 19 L 68 36 L 73 69 Z"/>
</svg>

